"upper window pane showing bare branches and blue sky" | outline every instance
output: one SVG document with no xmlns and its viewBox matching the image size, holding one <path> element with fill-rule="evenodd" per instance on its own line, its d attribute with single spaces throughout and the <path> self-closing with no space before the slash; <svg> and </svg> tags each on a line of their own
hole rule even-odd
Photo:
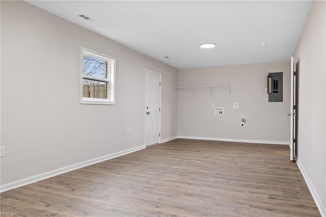
<svg viewBox="0 0 326 217">
<path fill-rule="evenodd" d="M 84 55 L 83 74 L 87 76 L 108 79 L 108 62 L 95 57 Z"/>
</svg>

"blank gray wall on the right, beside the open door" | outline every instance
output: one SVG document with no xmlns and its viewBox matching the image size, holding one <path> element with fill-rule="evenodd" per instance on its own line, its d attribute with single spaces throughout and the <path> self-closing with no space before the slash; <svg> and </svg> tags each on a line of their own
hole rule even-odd
<svg viewBox="0 0 326 217">
<path fill-rule="evenodd" d="M 325 1 L 312 3 L 294 51 L 294 62 L 300 60 L 298 162 L 323 206 L 323 214 L 326 213 L 325 11 Z"/>
</svg>

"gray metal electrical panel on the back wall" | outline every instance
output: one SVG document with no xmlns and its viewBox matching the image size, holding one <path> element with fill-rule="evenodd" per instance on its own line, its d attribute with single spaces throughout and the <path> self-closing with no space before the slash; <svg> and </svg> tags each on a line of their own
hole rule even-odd
<svg viewBox="0 0 326 217">
<path fill-rule="evenodd" d="M 283 72 L 267 75 L 268 102 L 283 102 Z"/>
</svg>

